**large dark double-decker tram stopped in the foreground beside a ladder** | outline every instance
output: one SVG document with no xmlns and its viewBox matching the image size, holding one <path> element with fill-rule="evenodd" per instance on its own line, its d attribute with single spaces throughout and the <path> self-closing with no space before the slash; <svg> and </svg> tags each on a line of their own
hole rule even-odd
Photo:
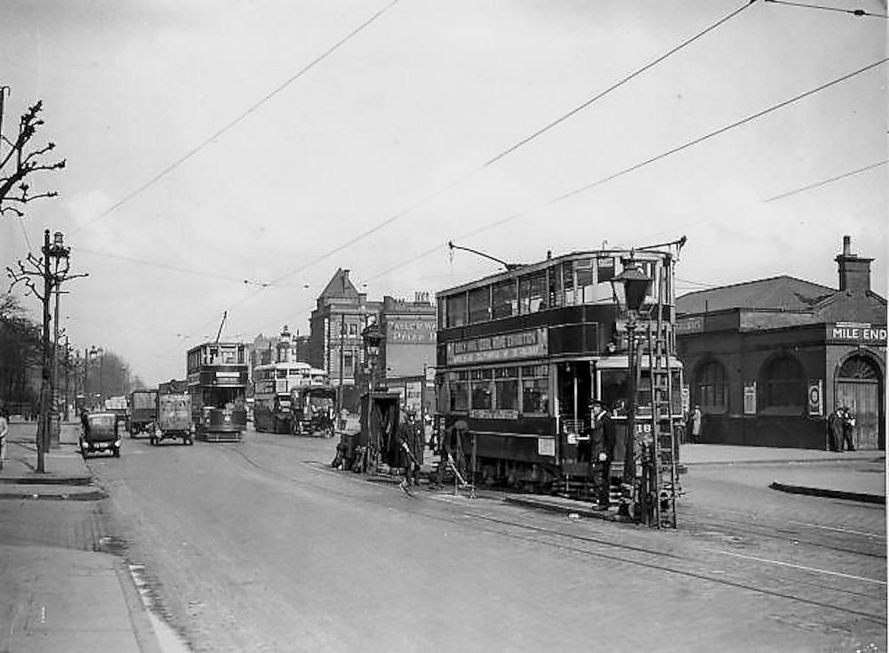
<svg viewBox="0 0 889 653">
<path fill-rule="evenodd" d="M 641 501 L 647 476 L 649 504 L 666 496 L 675 514 L 682 369 L 674 267 L 684 242 L 549 257 L 437 294 L 439 426 L 468 429 L 477 483 L 589 497 L 592 465 L 578 436 L 599 400 L 617 434 L 615 494 Z M 615 294 L 625 271 L 648 282 L 631 311 Z M 643 469 L 646 455 L 657 479 Z"/>
</svg>

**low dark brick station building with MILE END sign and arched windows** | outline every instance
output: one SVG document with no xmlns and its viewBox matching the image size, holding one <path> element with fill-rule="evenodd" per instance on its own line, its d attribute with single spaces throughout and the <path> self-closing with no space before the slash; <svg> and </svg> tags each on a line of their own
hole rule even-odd
<svg viewBox="0 0 889 653">
<path fill-rule="evenodd" d="M 886 300 L 848 236 L 835 261 L 838 289 L 781 276 L 677 298 L 701 442 L 823 449 L 846 406 L 856 447 L 885 449 Z"/>
</svg>

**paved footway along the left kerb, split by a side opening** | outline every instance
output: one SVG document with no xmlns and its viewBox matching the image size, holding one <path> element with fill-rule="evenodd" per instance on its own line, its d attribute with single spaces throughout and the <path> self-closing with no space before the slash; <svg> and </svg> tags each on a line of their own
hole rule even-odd
<svg viewBox="0 0 889 653">
<path fill-rule="evenodd" d="M 96 501 L 107 496 L 77 450 L 76 424 L 36 472 L 36 426 L 13 424 L 0 500 Z M 37 504 L 34 508 L 39 510 Z M 4 512 L 14 515 L 21 512 Z M 159 653 L 158 623 L 125 560 L 108 552 L 0 541 L 0 651 Z"/>
</svg>

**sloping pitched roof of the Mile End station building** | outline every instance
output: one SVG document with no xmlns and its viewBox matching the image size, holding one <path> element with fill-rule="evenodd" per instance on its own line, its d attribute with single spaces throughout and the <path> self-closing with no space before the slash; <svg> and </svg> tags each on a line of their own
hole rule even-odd
<svg viewBox="0 0 889 653">
<path fill-rule="evenodd" d="M 706 313 L 728 309 L 813 310 L 835 288 L 782 275 L 733 286 L 699 290 L 677 297 L 677 313 Z"/>
</svg>

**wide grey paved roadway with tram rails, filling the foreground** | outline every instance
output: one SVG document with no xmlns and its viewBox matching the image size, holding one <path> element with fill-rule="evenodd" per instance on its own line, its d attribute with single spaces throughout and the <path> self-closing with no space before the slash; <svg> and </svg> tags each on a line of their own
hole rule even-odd
<svg viewBox="0 0 889 653">
<path fill-rule="evenodd" d="M 92 458 L 120 552 L 200 651 L 883 650 L 882 507 L 685 478 L 680 532 L 327 466 L 332 440 Z"/>
</svg>

